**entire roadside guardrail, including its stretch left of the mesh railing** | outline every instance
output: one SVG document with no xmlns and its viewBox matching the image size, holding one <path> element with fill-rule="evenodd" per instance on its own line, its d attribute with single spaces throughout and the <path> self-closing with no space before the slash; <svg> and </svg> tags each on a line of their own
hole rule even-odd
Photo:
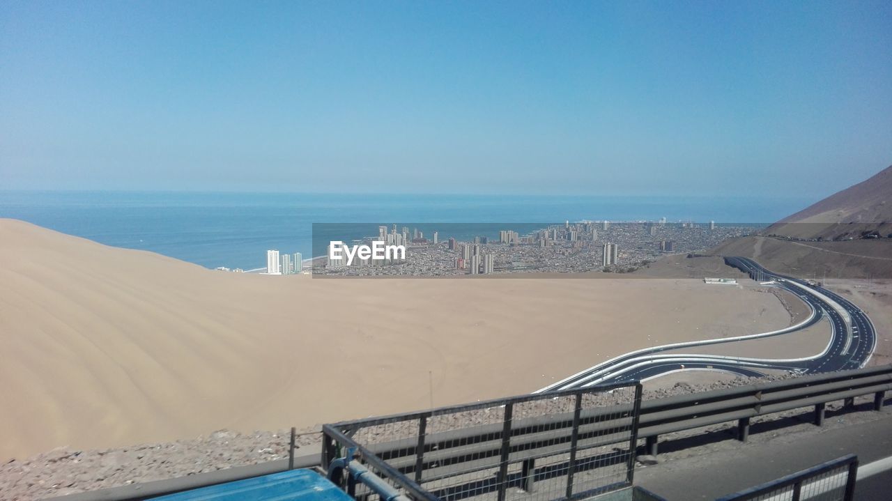
<svg viewBox="0 0 892 501">
<path fill-rule="evenodd" d="M 677 397 L 645 400 L 640 404 L 638 438 L 646 440 L 648 454 L 657 454 L 657 439 L 662 434 L 674 431 L 688 431 L 701 426 L 736 421 L 737 438 L 746 440 L 749 433 L 749 422 L 752 417 L 770 415 L 801 407 L 814 407 L 814 423 L 821 425 L 824 420 L 824 411 L 827 403 L 842 400 L 847 405 L 850 405 L 855 397 L 873 394 L 873 408 L 880 410 L 886 391 L 889 390 L 892 390 L 892 365 L 881 365 L 837 373 L 807 375 L 789 380 L 760 383 L 727 390 L 713 390 Z M 572 393 L 573 390 L 570 391 Z M 544 395 L 549 396 L 551 394 Z M 621 405 L 611 407 L 608 410 L 616 414 L 631 412 L 632 407 Z M 417 418 L 430 412 L 432 411 L 412 415 L 389 416 L 382 419 L 390 419 L 392 422 L 395 422 L 403 416 L 415 416 Z M 605 429 L 604 427 L 607 426 L 605 424 L 605 416 L 603 412 L 599 413 L 598 409 L 583 409 L 579 415 L 580 428 L 577 439 L 591 439 L 591 433 Z M 533 428 L 538 426 L 541 430 L 548 430 L 549 433 L 555 435 L 553 437 L 556 440 L 555 444 L 558 443 L 558 440 L 562 440 L 560 443 L 566 443 L 568 439 L 572 439 L 571 433 L 567 432 L 567 430 L 569 427 L 572 427 L 573 413 L 555 413 L 534 418 L 518 417 L 517 422 L 524 421 L 524 419 L 527 420 L 524 426 L 516 424 L 518 430 L 529 428 L 532 431 Z M 442 451 L 437 450 L 436 455 L 434 455 L 434 451 L 428 451 L 425 452 L 425 455 L 431 459 L 442 461 L 443 466 L 473 461 L 475 460 L 475 454 L 480 455 L 476 457 L 478 460 L 484 456 L 491 457 L 494 454 L 501 453 L 501 444 L 499 442 L 501 430 L 501 425 L 496 423 L 480 424 L 470 430 L 466 428 L 464 430 L 443 431 L 436 438 L 425 439 L 426 443 L 435 444 L 438 448 L 443 446 Z M 450 441 L 452 443 L 463 442 L 463 448 L 445 447 L 449 445 Z M 493 443 L 494 441 L 496 443 Z M 511 443 L 514 449 L 509 450 L 509 452 L 528 455 L 533 459 L 532 464 L 535 464 L 535 449 L 546 445 L 542 444 L 541 440 L 537 444 L 535 434 L 532 432 L 518 432 L 516 435 L 512 435 Z M 412 456 L 414 455 L 413 447 L 416 447 L 416 445 L 403 443 L 400 446 L 400 444 L 382 442 L 370 445 L 368 450 L 382 458 L 386 458 L 389 463 L 397 464 L 397 470 L 400 474 L 407 474 L 415 471 L 414 464 L 408 459 L 409 456 L 414 457 Z M 552 444 L 552 447 L 554 447 L 554 444 Z M 328 460 L 325 463 L 323 463 L 322 458 L 318 454 L 297 457 L 294 459 L 293 467 L 307 468 L 327 464 L 332 457 L 334 456 L 329 453 L 327 456 Z M 397 461 L 400 458 L 404 458 L 403 463 Z M 58 501 L 133 501 L 171 494 L 186 489 L 197 489 L 225 481 L 242 480 L 252 476 L 283 472 L 288 469 L 288 460 L 282 459 L 220 470 L 219 472 L 200 473 L 177 479 L 101 489 L 54 497 L 52 499 Z M 522 478 L 526 478 L 523 476 L 523 473 L 522 471 Z M 535 480 L 535 477 L 533 480 Z"/>
</svg>

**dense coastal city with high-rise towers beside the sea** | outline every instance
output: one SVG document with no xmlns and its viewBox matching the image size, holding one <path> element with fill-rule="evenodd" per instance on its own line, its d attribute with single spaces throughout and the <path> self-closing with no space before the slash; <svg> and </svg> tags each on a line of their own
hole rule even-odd
<svg viewBox="0 0 892 501">
<path fill-rule="evenodd" d="M 473 240 L 430 238 L 416 228 L 380 226 L 379 234 L 363 242 L 380 240 L 406 245 L 406 259 L 370 261 L 314 259 L 312 273 L 345 276 L 449 276 L 550 272 L 604 271 L 628 273 L 663 254 L 690 253 L 714 247 L 724 240 L 756 233 L 755 226 L 657 222 L 611 223 L 582 221 L 541 228 L 531 234 L 500 231 L 499 238 Z"/>
</svg>

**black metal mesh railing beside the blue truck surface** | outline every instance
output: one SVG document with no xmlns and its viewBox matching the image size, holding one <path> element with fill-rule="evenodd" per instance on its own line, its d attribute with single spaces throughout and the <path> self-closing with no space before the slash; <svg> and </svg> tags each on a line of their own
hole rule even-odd
<svg viewBox="0 0 892 501">
<path fill-rule="evenodd" d="M 322 463 L 355 460 L 419 501 L 590 497 L 632 485 L 640 401 L 622 383 L 326 424 Z"/>
</svg>

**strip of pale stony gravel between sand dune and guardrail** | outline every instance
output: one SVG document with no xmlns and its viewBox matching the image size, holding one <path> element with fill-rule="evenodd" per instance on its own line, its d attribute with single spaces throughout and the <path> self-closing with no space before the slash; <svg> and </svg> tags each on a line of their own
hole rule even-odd
<svg viewBox="0 0 892 501">
<path fill-rule="evenodd" d="M 739 378 L 730 382 L 690 385 L 675 384 L 671 388 L 645 390 L 643 398 L 665 398 L 697 391 L 718 390 L 756 382 L 783 379 Z M 605 395 L 603 401 L 595 399 L 592 405 L 617 403 L 617 396 Z M 539 402 L 545 406 L 538 413 L 552 410 L 556 404 L 549 398 Z M 494 420 L 491 409 L 464 413 L 465 423 L 490 423 Z M 454 420 L 450 420 L 454 421 Z M 394 432 L 394 430 L 390 430 Z M 319 450 L 318 429 L 299 430 L 297 454 L 310 454 Z M 398 431 L 397 431 L 398 432 Z M 129 448 L 97 450 L 73 450 L 57 448 L 25 460 L 12 460 L 0 465 L 0 499 L 27 501 L 45 497 L 62 496 L 87 490 L 163 480 L 173 477 L 213 472 L 234 466 L 258 464 L 288 456 L 289 431 L 214 431 L 207 437 L 183 439 L 176 442 L 146 444 Z"/>
</svg>

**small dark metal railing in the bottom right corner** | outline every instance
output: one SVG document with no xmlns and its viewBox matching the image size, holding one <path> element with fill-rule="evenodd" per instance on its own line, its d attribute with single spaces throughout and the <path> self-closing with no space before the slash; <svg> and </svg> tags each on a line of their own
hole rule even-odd
<svg viewBox="0 0 892 501">
<path fill-rule="evenodd" d="M 851 501 L 857 473 L 857 456 L 843 456 L 716 501 Z"/>
</svg>

